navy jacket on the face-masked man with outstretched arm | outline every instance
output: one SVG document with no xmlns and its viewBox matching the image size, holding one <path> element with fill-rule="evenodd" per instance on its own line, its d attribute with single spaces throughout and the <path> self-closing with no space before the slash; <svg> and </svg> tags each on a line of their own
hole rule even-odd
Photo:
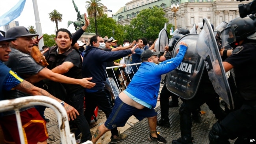
<svg viewBox="0 0 256 144">
<path fill-rule="evenodd" d="M 83 57 L 82 75 L 83 78 L 93 77 L 91 82 L 96 83 L 96 85 L 91 90 L 100 90 L 105 87 L 106 62 L 120 59 L 129 54 L 132 54 L 131 50 L 107 52 L 95 46 L 86 46 Z"/>
</svg>

